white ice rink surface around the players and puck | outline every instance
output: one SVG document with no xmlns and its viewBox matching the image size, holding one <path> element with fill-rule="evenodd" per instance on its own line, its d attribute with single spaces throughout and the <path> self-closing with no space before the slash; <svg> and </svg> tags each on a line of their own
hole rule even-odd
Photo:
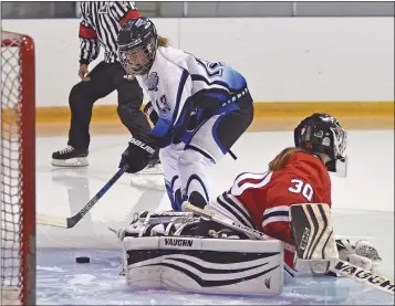
<svg viewBox="0 0 395 306">
<path fill-rule="evenodd" d="M 248 133 L 235 145 L 238 160 L 226 156 L 210 171 L 212 197 L 228 189 L 239 172 L 263 172 L 291 131 Z M 65 137 L 37 139 L 37 211 L 56 217 L 76 213 L 116 172 L 127 135 L 93 136 L 90 166 L 60 169 L 51 154 Z M 394 130 L 351 130 L 346 179 L 332 177 L 334 231 L 337 236 L 372 242 L 383 257 L 382 274 L 394 278 Z M 169 209 L 162 177 L 124 175 L 73 229 L 38 225 L 38 304 L 40 305 L 363 305 L 394 304 L 387 294 L 356 282 L 301 277 L 277 297 L 216 296 L 159 291 L 135 292 L 119 275 L 121 243 L 108 231 L 127 224 L 135 212 Z M 90 264 L 76 264 L 86 255 Z"/>
</svg>

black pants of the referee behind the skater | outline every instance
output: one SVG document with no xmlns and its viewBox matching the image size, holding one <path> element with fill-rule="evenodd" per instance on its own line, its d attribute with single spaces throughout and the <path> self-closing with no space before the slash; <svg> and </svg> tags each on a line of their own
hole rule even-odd
<svg viewBox="0 0 395 306">
<path fill-rule="evenodd" d="M 115 89 L 118 92 L 118 116 L 131 134 L 150 131 L 147 117 L 141 110 L 143 89 L 136 78 L 127 81 L 124 75 L 121 63 L 101 62 L 90 72 L 90 81 L 81 81 L 73 86 L 69 96 L 71 125 L 67 145 L 89 149 L 93 104 Z"/>
</svg>

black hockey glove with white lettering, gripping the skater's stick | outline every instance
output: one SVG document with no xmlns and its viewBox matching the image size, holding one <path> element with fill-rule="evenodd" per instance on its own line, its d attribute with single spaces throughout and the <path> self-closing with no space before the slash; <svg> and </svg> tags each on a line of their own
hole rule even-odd
<svg viewBox="0 0 395 306">
<path fill-rule="evenodd" d="M 129 167 L 126 172 L 128 173 L 143 170 L 155 155 L 156 149 L 155 141 L 148 136 L 132 137 L 127 149 L 122 154 L 119 168 L 127 163 Z"/>
</svg>

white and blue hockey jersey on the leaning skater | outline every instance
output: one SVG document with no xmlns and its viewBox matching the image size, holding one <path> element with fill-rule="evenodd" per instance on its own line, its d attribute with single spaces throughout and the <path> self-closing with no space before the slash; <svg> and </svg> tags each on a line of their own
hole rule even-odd
<svg viewBox="0 0 395 306">
<path fill-rule="evenodd" d="M 210 63 L 170 46 L 159 46 L 150 71 L 136 78 L 159 117 L 150 134 L 168 138 L 168 144 L 191 108 L 198 120 L 204 109 L 216 114 L 239 109 L 237 97 L 247 91 L 245 77 L 227 64 Z"/>
</svg>

